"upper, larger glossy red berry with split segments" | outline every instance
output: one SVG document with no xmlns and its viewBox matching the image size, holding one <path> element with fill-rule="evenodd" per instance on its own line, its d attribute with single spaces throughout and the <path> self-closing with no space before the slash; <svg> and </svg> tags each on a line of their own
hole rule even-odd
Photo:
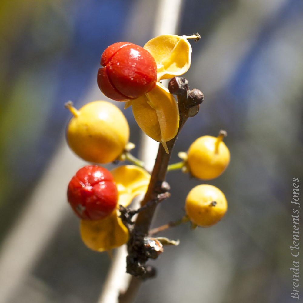
<svg viewBox="0 0 303 303">
<path fill-rule="evenodd" d="M 97 83 L 105 96 L 116 101 L 140 97 L 155 87 L 157 64 L 144 48 L 130 42 L 117 42 L 105 49 Z"/>
</svg>

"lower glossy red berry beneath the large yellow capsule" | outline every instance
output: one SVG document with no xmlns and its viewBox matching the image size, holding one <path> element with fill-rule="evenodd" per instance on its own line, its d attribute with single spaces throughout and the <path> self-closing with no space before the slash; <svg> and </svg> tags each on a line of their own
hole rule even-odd
<svg viewBox="0 0 303 303">
<path fill-rule="evenodd" d="M 110 215 L 118 201 L 112 174 L 98 165 L 80 168 L 68 184 L 67 198 L 75 214 L 84 220 Z"/>
</svg>

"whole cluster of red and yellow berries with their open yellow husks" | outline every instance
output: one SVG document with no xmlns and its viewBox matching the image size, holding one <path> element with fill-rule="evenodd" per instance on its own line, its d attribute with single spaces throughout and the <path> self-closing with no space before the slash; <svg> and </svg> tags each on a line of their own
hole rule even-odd
<svg viewBox="0 0 303 303">
<path fill-rule="evenodd" d="M 117 42 L 105 49 L 97 83 L 108 98 L 124 101 L 146 135 L 167 143 L 178 133 L 179 107 L 175 97 L 161 84 L 184 74 L 191 64 L 193 36 L 161 35 L 142 48 L 129 42 Z M 150 174 L 142 161 L 131 154 L 128 122 L 118 107 L 106 101 L 94 101 L 77 110 L 71 102 L 66 107 L 73 117 L 67 127 L 70 148 L 87 165 L 77 171 L 68 185 L 68 201 L 79 218 L 83 242 L 96 251 L 109 251 L 129 239 L 127 228 L 119 217 L 120 207 L 127 207 L 137 195 L 144 194 Z M 217 178 L 229 164 L 230 154 L 224 144 L 225 132 L 218 137 L 203 136 L 195 140 L 188 152 L 180 152 L 181 162 L 168 171 L 182 169 L 201 180 Z M 99 164 L 130 161 L 108 171 Z M 98 164 L 98 165 L 96 165 Z M 186 215 L 180 222 L 209 227 L 224 216 L 227 202 L 215 186 L 202 184 L 193 188 L 185 201 Z M 157 241 L 157 240 L 153 240 Z"/>
</svg>

